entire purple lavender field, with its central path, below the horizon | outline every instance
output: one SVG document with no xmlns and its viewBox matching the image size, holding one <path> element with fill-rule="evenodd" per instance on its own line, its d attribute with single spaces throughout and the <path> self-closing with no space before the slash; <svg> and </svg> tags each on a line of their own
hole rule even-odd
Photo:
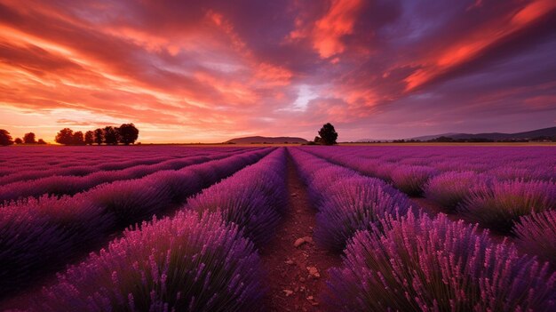
<svg viewBox="0 0 556 312">
<path fill-rule="evenodd" d="M 556 310 L 552 147 L 6 148 L 0 203 L 0 310 Z"/>
</svg>

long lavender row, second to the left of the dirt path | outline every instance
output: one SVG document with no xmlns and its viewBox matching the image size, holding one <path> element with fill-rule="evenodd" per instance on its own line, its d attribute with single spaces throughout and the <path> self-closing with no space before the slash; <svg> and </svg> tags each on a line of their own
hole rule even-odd
<svg viewBox="0 0 556 312">
<path fill-rule="evenodd" d="M 30 284 L 91 251 L 112 233 L 153 214 L 171 211 L 203 188 L 253 164 L 271 149 L 246 152 L 166 170 L 141 179 L 102 184 L 75 196 L 15 202 L 0 208 L 0 289 L 3 295 Z M 60 255 L 63 255 L 60 256 Z"/>
</svg>

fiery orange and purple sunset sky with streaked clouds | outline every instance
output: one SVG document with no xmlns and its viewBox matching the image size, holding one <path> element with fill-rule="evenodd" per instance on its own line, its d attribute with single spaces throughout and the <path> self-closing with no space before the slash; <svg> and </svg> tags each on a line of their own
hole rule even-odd
<svg viewBox="0 0 556 312">
<path fill-rule="evenodd" d="M 556 125 L 554 0 L 0 0 L 0 128 L 141 142 Z"/>
</svg>

